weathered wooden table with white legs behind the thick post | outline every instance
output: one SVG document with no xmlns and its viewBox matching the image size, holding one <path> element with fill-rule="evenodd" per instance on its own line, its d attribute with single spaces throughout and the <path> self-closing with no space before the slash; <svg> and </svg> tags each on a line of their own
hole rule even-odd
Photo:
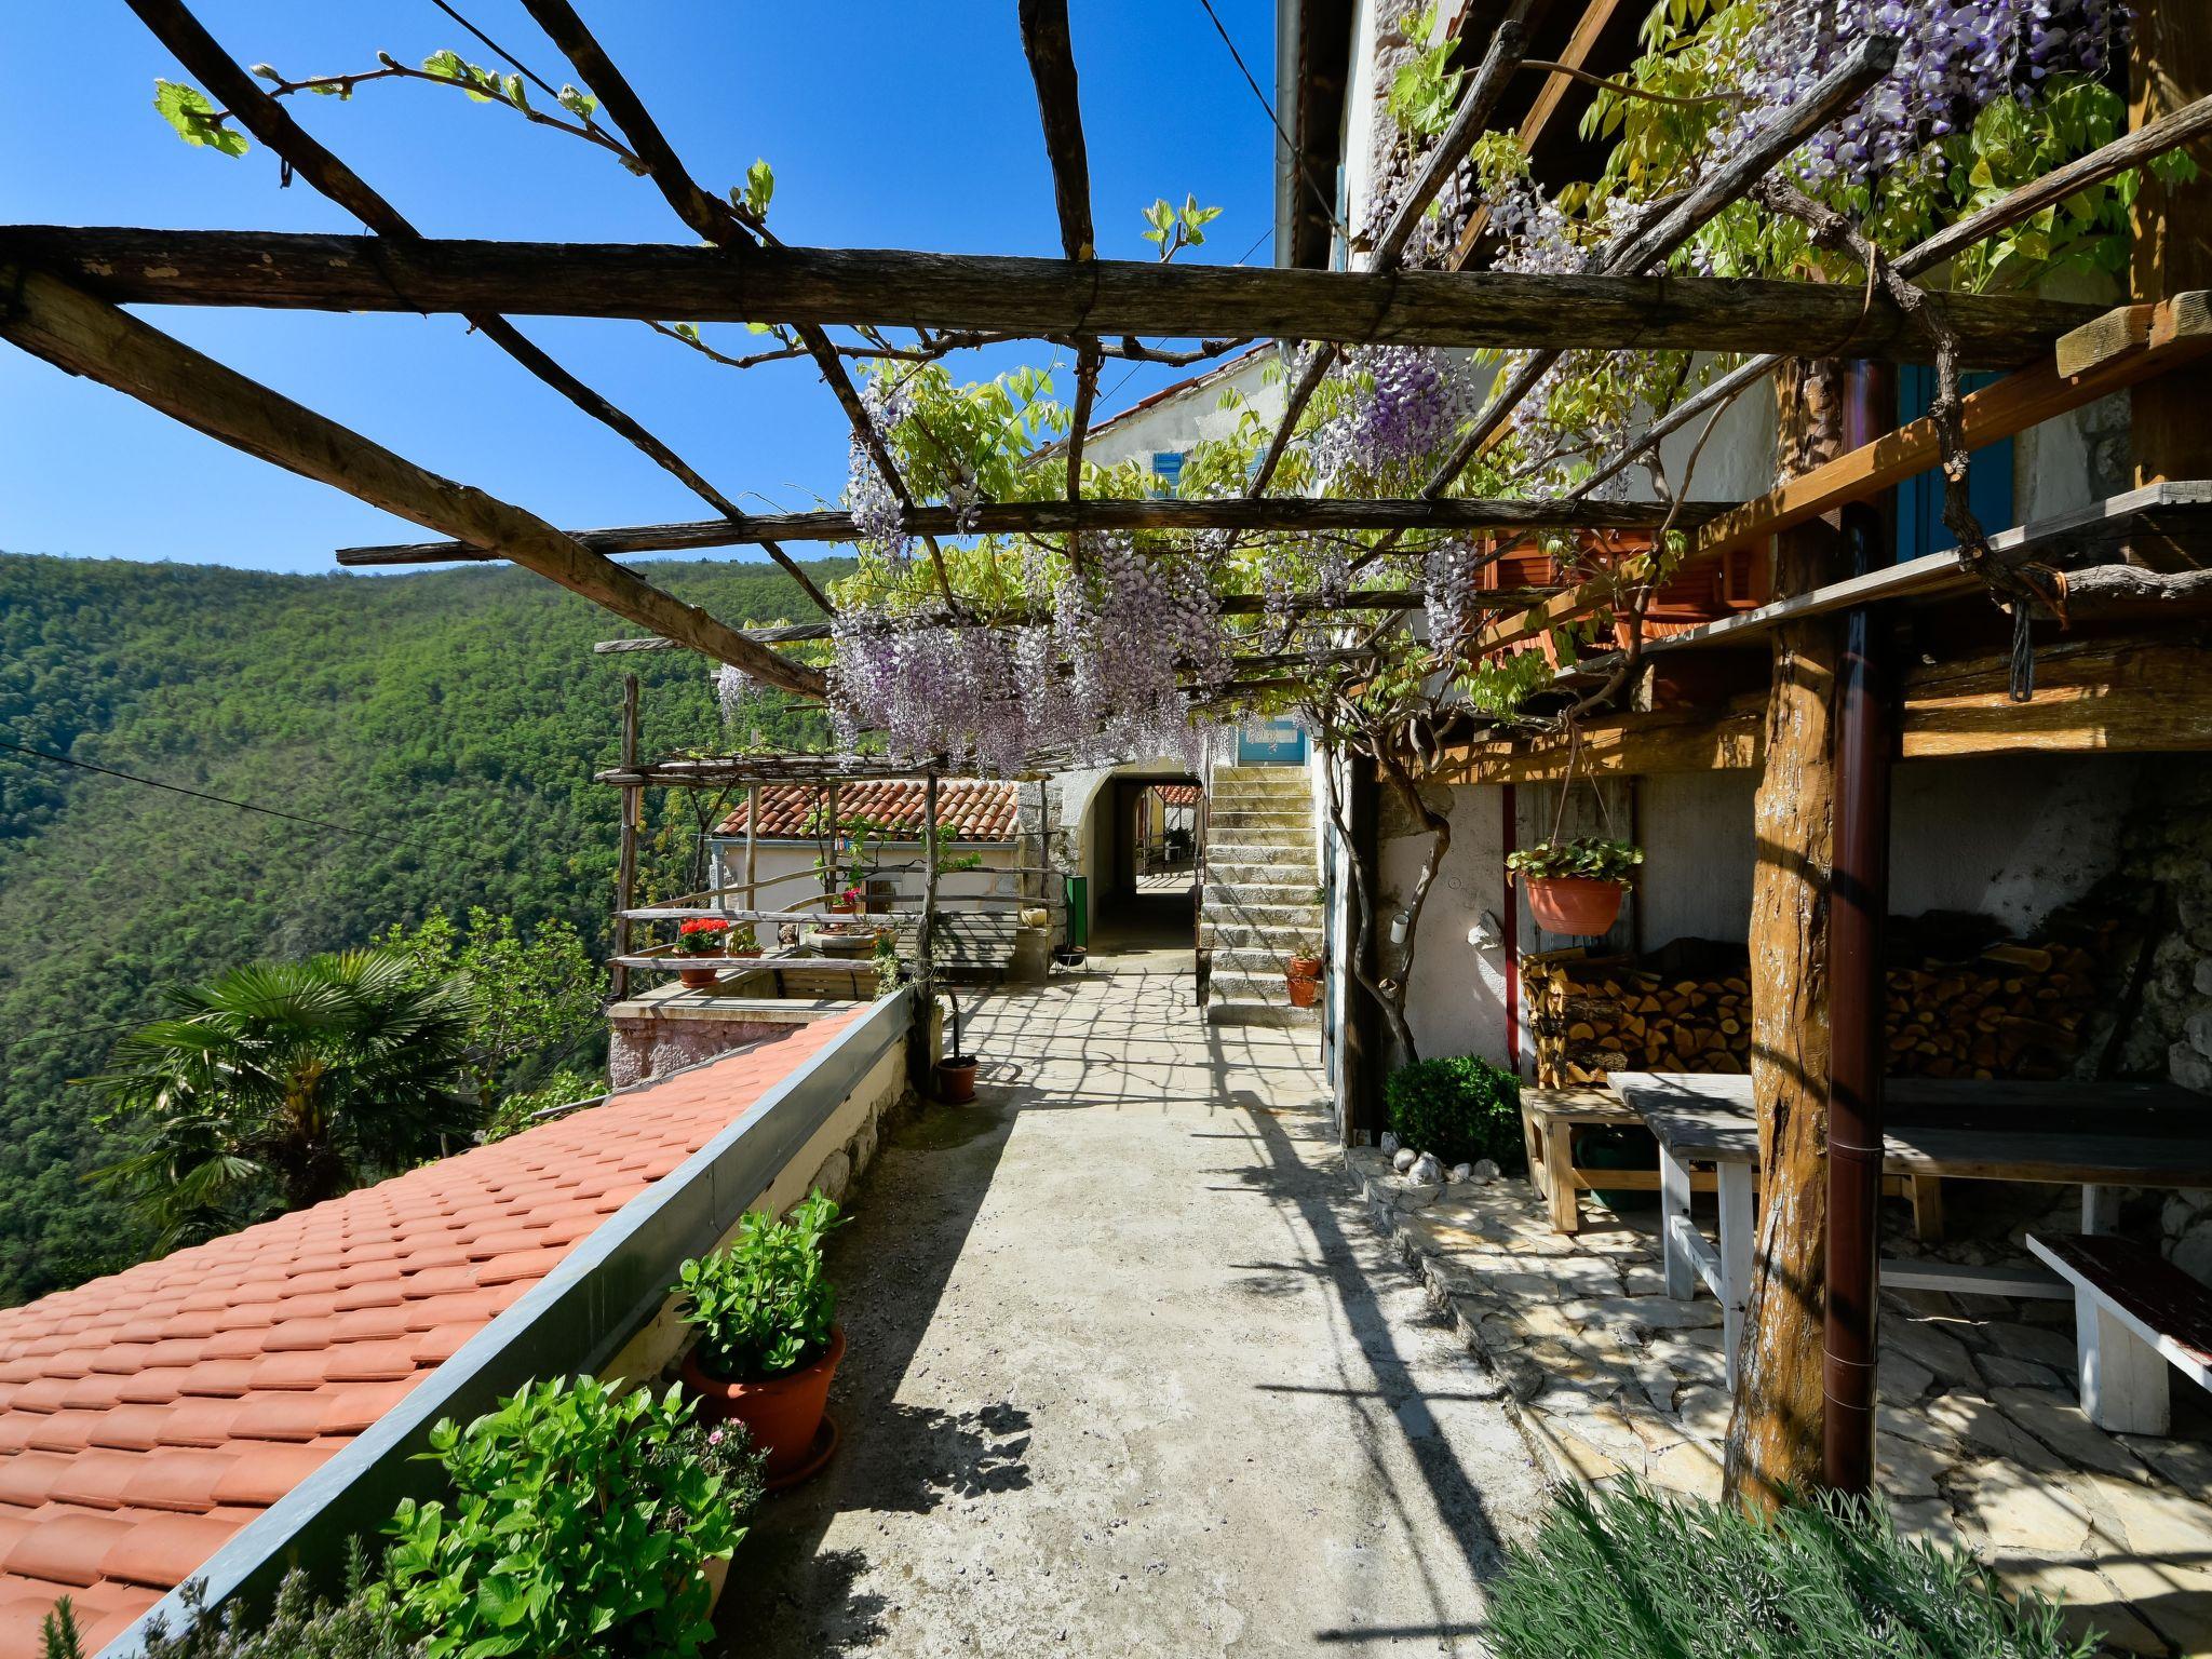
<svg viewBox="0 0 2212 1659">
<path fill-rule="evenodd" d="M 1752 1179 L 1759 1119 L 1741 1075 L 1617 1071 L 1613 1091 L 1659 1141 L 1659 1232 L 1668 1296 L 1703 1281 L 1721 1298 L 1728 1380 L 1752 1287 Z M 1721 1243 L 1690 1221 L 1690 1164 L 1719 1175 Z M 1893 1077 L 1882 1172 L 1907 1179 L 2046 1181 L 2081 1188 L 2081 1230 L 2108 1232 L 2119 1188 L 2212 1186 L 2212 1099 L 2172 1084 L 2020 1084 Z M 1885 1285 L 1991 1296 L 2073 1292 L 2039 1267 L 1885 1259 Z"/>
</svg>

